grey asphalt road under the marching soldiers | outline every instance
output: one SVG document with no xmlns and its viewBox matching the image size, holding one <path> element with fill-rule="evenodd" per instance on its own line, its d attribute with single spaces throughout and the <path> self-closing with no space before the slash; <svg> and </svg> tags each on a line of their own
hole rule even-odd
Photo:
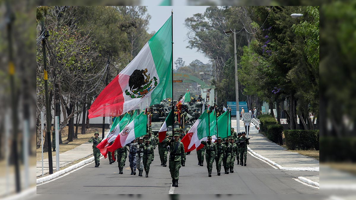
<svg viewBox="0 0 356 200">
<path fill-rule="evenodd" d="M 236 165 L 234 173 L 217 176 L 215 162 L 212 177 L 208 177 L 206 162 L 198 166 L 196 151 L 187 155 L 185 167 L 180 168 L 179 187 L 171 188 L 169 168 L 162 167 L 158 149 L 151 164 L 149 177 L 130 175 L 129 159 L 124 174 L 119 174 L 117 162 L 100 160 L 53 181 L 37 186 L 37 194 L 319 194 L 319 189 L 302 184 L 298 176 L 318 175 L 319 172 L 295 172 L 274 169 L 267 163 L 247 154 L 247 166 Z M 168 162 L 167 162 L 168 165 Z"/>
</svg>

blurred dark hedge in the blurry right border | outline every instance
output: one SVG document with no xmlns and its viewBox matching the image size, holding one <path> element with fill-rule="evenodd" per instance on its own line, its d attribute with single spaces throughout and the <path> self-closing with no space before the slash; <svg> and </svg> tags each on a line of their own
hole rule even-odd
<svg viewBox="0 0 356 200">
<path fill-rule="evenodd" d="M 356 162 L 355 137 L 321 137 L 320 162 Z"/>
</svg>

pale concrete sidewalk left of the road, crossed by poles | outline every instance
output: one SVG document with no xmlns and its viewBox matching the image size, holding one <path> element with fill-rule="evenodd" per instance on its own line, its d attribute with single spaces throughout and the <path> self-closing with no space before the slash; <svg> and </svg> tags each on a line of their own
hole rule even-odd
<svg viewBox="0 0 356 200">
<path fill-rule="evenodd" d="M 69 151 L 59 154 L 59 168 L 64 167 L 76 160 L 93 155 L 93 143 L 86 142 L 79 145 Z M 53 160 L 53 172 L 56 172 L 56 156 L 52 157 Z M 43 159 L 43 174 L 49 172 L 48 158 Z M 42 161 L 36 162 L 36 177 L 42 176 Z"/>
</svg>

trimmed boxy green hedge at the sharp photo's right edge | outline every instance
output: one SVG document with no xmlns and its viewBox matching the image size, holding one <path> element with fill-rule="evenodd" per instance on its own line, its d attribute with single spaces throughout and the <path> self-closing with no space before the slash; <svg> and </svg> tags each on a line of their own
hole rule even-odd
<svg viewBox="0 0 356 200">
<path fill-rule="evenodd" d="M 319 150 L 319 130 L 284 130 L 284 139 L 290 150 Z"/>
</svg>

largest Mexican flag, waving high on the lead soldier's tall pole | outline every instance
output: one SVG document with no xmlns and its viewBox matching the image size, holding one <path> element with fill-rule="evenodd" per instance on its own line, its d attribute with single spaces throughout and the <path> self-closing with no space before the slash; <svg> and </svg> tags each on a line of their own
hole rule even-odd
<svg viewBox="0 0 356 200">
<path fill-rule="evenodd" d="M 172 17 L 112 80 L 89 109 L 89 118 L 119 116 L 172 97 Z"/>
</svg>

